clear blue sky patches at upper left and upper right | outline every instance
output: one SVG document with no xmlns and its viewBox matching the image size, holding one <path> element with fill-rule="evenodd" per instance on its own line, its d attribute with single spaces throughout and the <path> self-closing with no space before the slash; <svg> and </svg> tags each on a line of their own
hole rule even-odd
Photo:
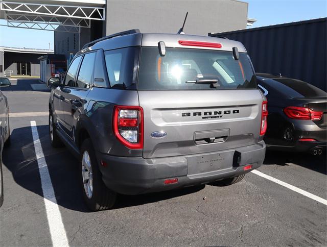
<svg viewBox="0 0 327 247">
<path fill-rule="evenodd" d="M 219 1 L 219 0 L 218 0 Z M 244 0 L 243 0 L 244 1 Z M 248 17 L 257 19 L 252 28 L 327 16 L 326 0 L 248 0 Z M 6 24 L 0 20 L 0 24 Z M 53 49 L 53 32 L 0 26 L 0 45 Z"/>
</svg>

